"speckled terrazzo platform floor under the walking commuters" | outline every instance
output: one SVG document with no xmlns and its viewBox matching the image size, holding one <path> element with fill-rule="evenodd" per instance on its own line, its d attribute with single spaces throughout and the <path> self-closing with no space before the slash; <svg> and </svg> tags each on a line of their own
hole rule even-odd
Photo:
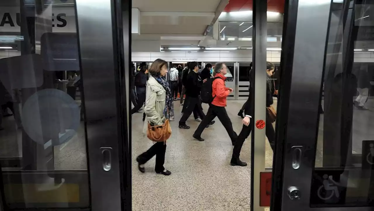
<svg viewBox="0 0 374 211">
<path fill-rule="evenodd" d="M 241 118 L 237 112 L 243 100 L 230 100 L 227 112 L 234 130 L 239 134 Z M 204 112 L 208 106 L 203 104 Z M 233 146 L 223 125 L 216 123 L 206 128 L 202 134 L 204 142 L 192 138 L 199 122 L 193 116 L 188 119 L 189 130 L 179 129 L 181 117 L 179 102 L 175 102 L 175 122 L 171 123 L 172 137 L 167 143 L 166 169 L 171 176 L 154 173 L 152 158 L 145 164 L 146 173 L 137 169 L 135 158 L 153 143 L 141 133 L 142 114 L 132 116 L 132 210 L 249 210 L 250 206 L 250 165 L 230 166 Z M 249 139 L 248 139 L 249 140 Z M 250 142 L 246 140 L 240 158 L 250 163 Z M 266 143 L 266 164 L 272 165 L 272 152 Z"/>
</svg>

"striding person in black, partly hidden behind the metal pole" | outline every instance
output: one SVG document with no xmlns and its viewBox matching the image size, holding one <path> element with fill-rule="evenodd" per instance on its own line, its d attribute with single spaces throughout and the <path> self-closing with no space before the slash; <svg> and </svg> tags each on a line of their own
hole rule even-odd
<svg viewBox="0 0 374 211">
<path fill-rule="evenodd" d="M 266 62 L 266 107 L 270 107 L 273 104 L 273 93 L 272 93 L 272 84 L 270 77 L 273 75 L 274 71 L 274 65 L 271 62 Z M 252 73 L 252 71 L 251 71 Z M 252 77 L 250 77 L 252 78 Z M 254 87 L 252 84 L 250 84 L 250 91 L 247 102 L 251 102 L 252 97 L 254 97 Z M 247 103 L 248 105 L 249 103 Z M 243 143 L 245 139 L 249 136 L 252 130 L 252 124 L 253 121 L 251 121 L 251 118 L 254 114 L 254 108 L 251 105 L 246 106 L 246 109 L 244 111 L 245 117 L 243 119 L 243 128 L 242 131 L 240 131 L 239 136 L 237 137 L 237 142 L 233 149 L 233 155 L 231 158 L 231 165 L 239 165 L 239 166 L 246 166 L 247 164 L 245 162 L 240 161 L 240 151 L 242 150 Z M 268 113 L 266 112 L 266 137 L 269 140 L 270 146 L 274 152 L 274 146 L 275 146 L 275 131 L 273 128 L 273 124 L 271 121 L 268 120 Z M 252 140 L 254 141 L 254 140 Z"/>
</svg>

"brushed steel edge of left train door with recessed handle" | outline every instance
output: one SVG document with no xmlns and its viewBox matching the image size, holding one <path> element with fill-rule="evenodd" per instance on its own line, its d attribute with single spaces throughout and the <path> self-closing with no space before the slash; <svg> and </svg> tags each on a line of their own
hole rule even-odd
<svg viewBox="0 0 374 211">
<path fill-rule="evenodd" d="M 129 0 L 76 0 L 92 210 L 131 209 L 130 17 Z"/>
</svg>

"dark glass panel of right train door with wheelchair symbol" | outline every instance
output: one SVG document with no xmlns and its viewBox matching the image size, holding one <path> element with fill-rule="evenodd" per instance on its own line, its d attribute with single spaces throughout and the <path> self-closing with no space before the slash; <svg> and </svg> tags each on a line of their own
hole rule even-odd
<svg viewBox="0 0 374 211">
<path fill-rule="evenodd" d="M 355 3 L 355 13 L 343 3 L 332 4 L 311 207 L 374 205 L 374 19 L 369 15 L 374 10 L 373 1 Z M 343 23 L 344 12 L 354 25 Z"/>
</svg>

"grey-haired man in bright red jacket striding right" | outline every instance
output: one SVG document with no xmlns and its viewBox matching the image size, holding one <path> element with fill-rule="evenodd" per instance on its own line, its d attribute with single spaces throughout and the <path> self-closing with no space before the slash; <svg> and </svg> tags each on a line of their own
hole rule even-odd
<svg viewBox="0 0 374 211">
<path fill-rule="evenodd" d="M 211 122 L 215 117 L 218 117 L 223 126 L 226 128 L 231 142 L 234 145 L 237 139 L 237 134 L 233 130 L 233 125 L 225 109 L 226 98 L 230 93 L 233 92 L 233 89 L 225 86 L 226 77 L 224 75 L 227 74 L 227 66 L 223 62 L 218 62 L 215 64 L 214 72 L 215 77 L 219 77 L 218 79 L 214 80 L 212 84 L 212 97 L 214 97 L 214 99 L 209 105 L 208 112 L 206 113 L 206 116 L 200 123 L 199 127 L 197 127 L 193 137 L 202 142 L 204 139 L 201 138 L 201 133 L 205 129 L 206 125 L 208 125 L 209 122 Z"/>
</svg>

